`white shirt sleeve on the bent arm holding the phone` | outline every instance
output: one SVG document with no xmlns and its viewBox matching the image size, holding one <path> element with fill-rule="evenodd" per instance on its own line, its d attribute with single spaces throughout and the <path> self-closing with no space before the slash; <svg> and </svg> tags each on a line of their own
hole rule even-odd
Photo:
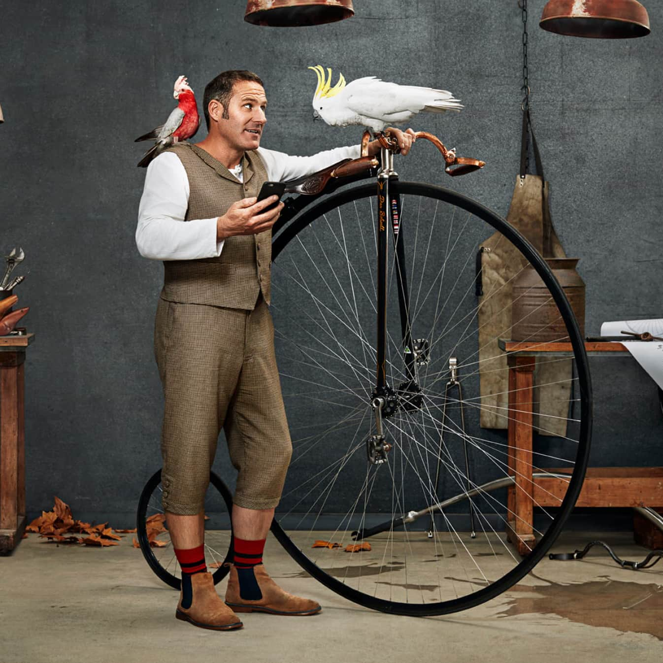
<svg viewBox="0 0 663 663">
<path fill-rule="evenodd" d="M 216 217 L 184 221 L 189 202 L 186 170 L 176 154 L 159 154 L 147 168 L 136 245 L 152 260 L 196 260 L 221 255 Z"/>
</svg>

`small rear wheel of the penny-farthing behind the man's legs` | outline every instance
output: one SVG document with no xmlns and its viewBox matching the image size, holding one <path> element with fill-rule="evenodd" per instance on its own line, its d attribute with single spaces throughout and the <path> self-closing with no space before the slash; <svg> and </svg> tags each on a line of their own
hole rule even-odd
<svg viewBox="0 0 663 663">
<path fill-rule="evenodd" d="M 180 566 L 177 563 L 168 530 L 158 535 L 162 547 L 152 547 L 148 539 L 147 520 L 156 514 L 163 514 L 161 506 L 161 470 L 156 471 L 145 484 L 138 503 L 136 532 L 145 561 L 156 575 L 173 589 L 180 589 L 182 582 Z M 206 534 L 205 558 L 208 571 L 212 573 L 214 584 L 219 583 L 228 573 L 227 564 L 233 558 L 232 530 L 230 515 L 233 510 L 233 497 L 228 487 L 213 472 L 210 472 L 210 487 L 206 496 L 206 513 L 211 513 L 211 532 Z M 210 540 L 214 536 L 214 540 Z M 213 566 L 215 565 L 215 566 Z"/>
</svg>

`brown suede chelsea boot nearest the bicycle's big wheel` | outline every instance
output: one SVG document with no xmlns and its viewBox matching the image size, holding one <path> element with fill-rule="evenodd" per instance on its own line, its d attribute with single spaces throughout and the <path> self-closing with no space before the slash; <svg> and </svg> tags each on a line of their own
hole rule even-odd
<svg viewBox="0 0 663 663">
<path fill-rule="evenodd" d="M 261 612 L 271 615 L 292 615 L 304 617 L 307 615 L 317 615 L 322 608 L 320 604 L 311 599 L 302 599 L 293 596 L 287 591 L 281 589 L 267 575 L 265 567 L 258 564 L 253 567 L 255 579 L 262 595 L 257 601 L 247 601 L 241 597 L 239 591 L 239 578 L 237 569 L 231 566 L 228 578 L 228 587 L 225 590 L 225 603 L 237 613 Z"/>
</svg>

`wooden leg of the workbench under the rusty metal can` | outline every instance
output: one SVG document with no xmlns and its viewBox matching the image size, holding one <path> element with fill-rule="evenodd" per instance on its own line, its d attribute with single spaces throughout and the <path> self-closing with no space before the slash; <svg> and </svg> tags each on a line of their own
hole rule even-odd
<svg viewBox="0 0 663 663">
<path fill-rule="evenodd" d="M 534 357 L 509 357 L 509 471 L 515 485 L 509 493 L 507 538 L 525 556 L 536 544 L 534 528 L 534 481 L 532 479 L 532 400 Z"/>
</svg>

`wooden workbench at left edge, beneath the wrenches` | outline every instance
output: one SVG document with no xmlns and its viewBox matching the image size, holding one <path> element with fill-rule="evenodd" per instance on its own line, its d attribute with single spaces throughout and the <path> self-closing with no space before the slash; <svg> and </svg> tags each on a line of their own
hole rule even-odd
<svg viewBox="0 0 663 663">
<path fill-rule="evenodd" d="M 0 554 L 25 530 L 25 351 L 33 333 L 0 336 Z"/>
</svg>

